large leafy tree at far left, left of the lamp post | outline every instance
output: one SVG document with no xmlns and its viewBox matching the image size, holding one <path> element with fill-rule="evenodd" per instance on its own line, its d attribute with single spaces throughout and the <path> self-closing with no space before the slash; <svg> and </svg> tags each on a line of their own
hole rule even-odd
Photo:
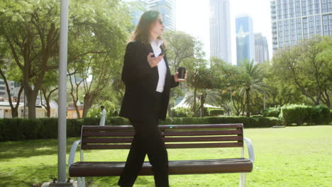
<svg viewBox="0 0 332 187">
<path fill-rule="evenodd" d="M 23 74 L 28 116 L 35 118 L 35 101 L 45 73 L 57 69 L 59 49 L 57 1 L 6 1 L 1 4 L 0 35 Z"/>
</svg>

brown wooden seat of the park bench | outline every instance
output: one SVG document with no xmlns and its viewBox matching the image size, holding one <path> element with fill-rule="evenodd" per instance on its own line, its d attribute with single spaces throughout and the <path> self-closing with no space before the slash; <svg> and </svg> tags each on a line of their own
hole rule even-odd
<svg viewBox="0 0 332 187">
<path fill-rule="evenodd" d="M 120 176 L 126 162 L 77 162 L 70 166 L 70 176 Z M 169 174 L 223 174 L 242 173 L 253 170 L 249 159 L 210 159 L 170 161 Z M 141 176 L 153 175 L 149 162 L 144 162 Z"/>
</svg>

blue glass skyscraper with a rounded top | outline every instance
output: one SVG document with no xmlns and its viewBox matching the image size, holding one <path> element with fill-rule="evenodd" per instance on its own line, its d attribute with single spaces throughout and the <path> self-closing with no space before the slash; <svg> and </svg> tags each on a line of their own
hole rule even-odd
<svg viewBox="0 0 332 187">
<path fill-rule="evenodd" d="M 239 65 L 245 59 L 255 60 L 255 40 L 253 19 L 243 15 L 236 17 L 236 62 Z"/>
</svg>

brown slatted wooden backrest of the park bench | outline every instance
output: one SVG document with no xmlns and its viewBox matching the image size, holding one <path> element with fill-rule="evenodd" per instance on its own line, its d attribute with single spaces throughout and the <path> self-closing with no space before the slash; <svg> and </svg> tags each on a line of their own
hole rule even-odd
<svg viewBox="0 0 332 187">
<path fill-rule="evenodd" d="M 167 148 L 243 147 L 243 124 L 159 125 Z M 83 126 L 81 149 L 130 149 L 126 126 Z"/>
</svg>

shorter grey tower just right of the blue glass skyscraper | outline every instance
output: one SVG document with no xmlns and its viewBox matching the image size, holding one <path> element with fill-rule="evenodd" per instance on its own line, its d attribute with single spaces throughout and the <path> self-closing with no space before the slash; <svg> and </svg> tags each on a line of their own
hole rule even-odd
<svg viewBox="0 0 332 187">
<path fill-rule="evenodd" d="M 255 61 L 262 63 L 269 60 L 269 58 L 269 47 L 266 37 L 262 36 L 262 33 L 255 33 Z"/>
</svg>

